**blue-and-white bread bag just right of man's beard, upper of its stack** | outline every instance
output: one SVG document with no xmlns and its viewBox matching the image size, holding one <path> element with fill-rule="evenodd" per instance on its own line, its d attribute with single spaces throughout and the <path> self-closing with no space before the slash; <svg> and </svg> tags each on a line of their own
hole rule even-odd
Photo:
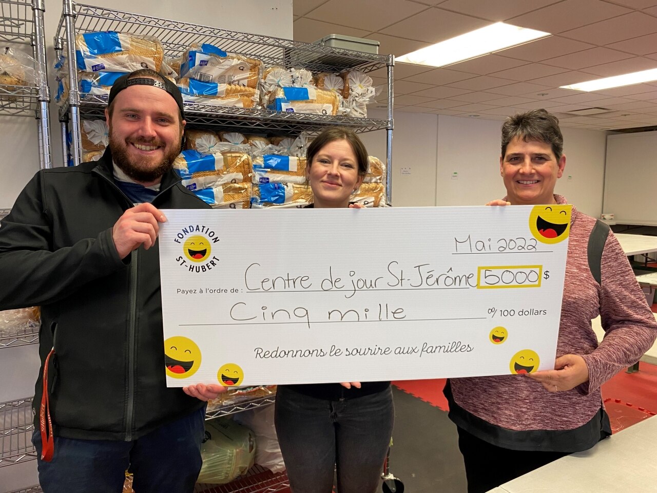
<svg viewBox="0 0 657 493">
<path fill-rule="evenodd" d="M 181 177 L 183 187 L 196 191 L 224 183 L 250 181 L 252 161 L 248 154 L 202 154 L 189 149 L 178 154 L 173 170 Z"/>
</svg>

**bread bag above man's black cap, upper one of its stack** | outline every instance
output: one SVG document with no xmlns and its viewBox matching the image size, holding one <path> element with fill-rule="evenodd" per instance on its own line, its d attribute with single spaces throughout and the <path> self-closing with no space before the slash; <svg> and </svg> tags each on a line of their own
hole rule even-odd
<svg viewBox="0 0 657 493">
<path fill-rule="evenodd" d="M 83 72 L 160 72 L 164 48 L 154 36 L 116 31 L 76 35 L 76 63 Z"/>
</svg>

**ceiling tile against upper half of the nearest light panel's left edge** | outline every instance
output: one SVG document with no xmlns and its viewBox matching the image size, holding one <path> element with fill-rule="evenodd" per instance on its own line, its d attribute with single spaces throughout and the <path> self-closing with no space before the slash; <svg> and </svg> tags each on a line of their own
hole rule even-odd
<svg viewBox="0 0 657 493">
<path fill-rule="evenodd" d="M 488 24 L 490 22 L 486 20 L 432 7 L 406 20 L 397 22 L 397 24 L 393 24 L 381 32 L 392 36 L 417 39 L 417 41 L 426 43 L 438 43 L 438 41 L 444 41 L 450 37 L 483 28 Z"/>
</svg>

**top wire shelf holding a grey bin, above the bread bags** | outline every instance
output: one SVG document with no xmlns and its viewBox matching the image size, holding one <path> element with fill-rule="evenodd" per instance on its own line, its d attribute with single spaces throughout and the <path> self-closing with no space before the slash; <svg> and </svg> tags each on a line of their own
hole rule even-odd
<svg viewBox="0 0 657 493">
<path fill-rule="evenodd" d="M 248 34 L 177 20 L 115 11 L 72 3 L 76 34 L 94 31 L 131 32 L 160 39 L 166 57 L 177 58 L 193 43 L 212 43 L 224 51 L 262 60 L 265 64 L 301 66 L 313 72 L 369 72 L 386 66 L 388 57 L 347 49 L 324 47 L 260 34 Z M 65 39 L 63 22 L 59 35 Z"/>
</svg>

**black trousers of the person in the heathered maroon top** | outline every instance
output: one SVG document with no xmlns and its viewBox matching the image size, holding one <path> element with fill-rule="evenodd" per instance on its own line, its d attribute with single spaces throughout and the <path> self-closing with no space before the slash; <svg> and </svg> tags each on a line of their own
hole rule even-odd
<svg viewBox="0 0 657 493">
<path fill-rule="evenodd" d="M 568 455 L 568 452 L 510 450 L 480 440 L 463 428 L 459 430 L 459 450 L 463 454 L 468 493 L 485 493 L 542 465 Z"/>
</svg>

